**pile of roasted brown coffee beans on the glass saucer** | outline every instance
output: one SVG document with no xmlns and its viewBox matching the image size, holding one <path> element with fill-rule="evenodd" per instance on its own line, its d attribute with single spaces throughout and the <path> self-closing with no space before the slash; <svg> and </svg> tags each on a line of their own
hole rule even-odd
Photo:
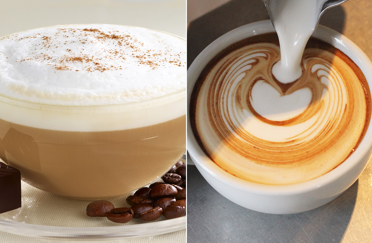
<svg viewBox="0 0 372 243">
<path fill-rule="evenodd" d="M 163 176 L 164 182 L 142 187 L 126 198 L 131 207 L 114 208 L 106 200 L 91 202 L 87 208 L 90 217 L 107 217 L 115 223 L 127 223 L 132 218 L 153 221 L 182 217 L 186 213 L 186 164 L 179 161 Z"/>
</svg>

